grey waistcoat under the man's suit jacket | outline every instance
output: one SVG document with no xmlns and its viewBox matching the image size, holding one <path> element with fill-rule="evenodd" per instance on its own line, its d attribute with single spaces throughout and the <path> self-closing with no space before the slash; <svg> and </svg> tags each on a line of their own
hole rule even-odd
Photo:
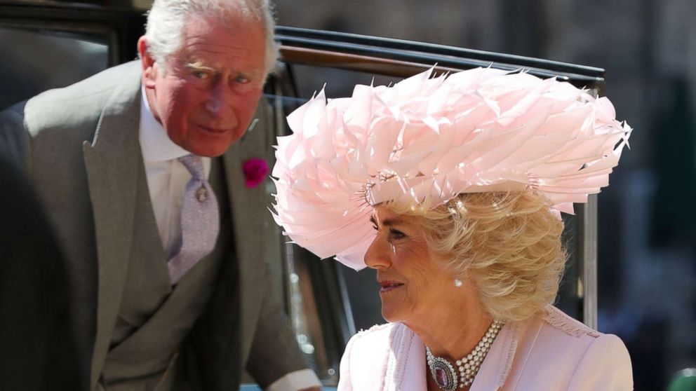
<svg viewBox="0 0 696 391">
<path fill-rule="evenodd" d="M 210 184 L 220 205 L 215 249 L 171 287 L 166 257 L 147 190 L 138 179 L 135 229 L 123 301 L 99 386 L 107 391 L 171 390 L 178 350 L 210 299 L 222 259 L 231 251 L 229 203 L 222 167 L 213 160 Z M 222 200 L 222 202 L 220 202 Z"/>
</svg>

